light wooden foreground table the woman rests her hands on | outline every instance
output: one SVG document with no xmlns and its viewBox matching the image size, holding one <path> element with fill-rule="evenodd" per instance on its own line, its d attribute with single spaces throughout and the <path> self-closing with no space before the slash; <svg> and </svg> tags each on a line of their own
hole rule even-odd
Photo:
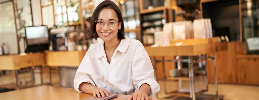
<svg viewBox="0 0 259 100">
<path fill-rule="evenodd" d="M 27 89 L 0 93 L 1 100 L 83 100 L 92 97 L 92 94 L 78 93 L 71 88 L 54 86 L 37 86 Z M 118 94 L 111 100 L 127 100 L 129 95 Z M 165 100 L 148 98 L 148 100 Z"/>
</svg>

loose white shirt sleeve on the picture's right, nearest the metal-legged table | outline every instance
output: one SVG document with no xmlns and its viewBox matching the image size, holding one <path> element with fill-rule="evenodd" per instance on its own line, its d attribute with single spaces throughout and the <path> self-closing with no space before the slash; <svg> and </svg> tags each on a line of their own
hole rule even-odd
<svg viewBox="0 0 259 100">
<path fill-rule="evenodd" d="M 154 79 L 152 63 L 142 44 L 138 44 L 132 63 L 132 80 L 136 91 L 140 89 L 141 85 L 146 83 L 151 88 L 148 96 L 154 97 L 154 94 L 159 92 L 160 86 Z"/>
</svg>

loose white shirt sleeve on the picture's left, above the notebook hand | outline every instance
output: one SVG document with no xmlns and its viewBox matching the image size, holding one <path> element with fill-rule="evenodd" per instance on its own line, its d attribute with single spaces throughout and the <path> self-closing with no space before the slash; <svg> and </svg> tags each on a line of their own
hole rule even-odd
<svg viewBox="0 0 259 100">
<path fill-rule="evenodd" d="M 93 82 L 93 79 L 89 73 L 92 70 L 90 66 L 92 66 L 93 63 L 92 63 L 92 60 L 91 60 L 91 57 L 90 57 L 90 54 L 88 51 L 86 52 L 83 60 L 81 61 L 80 65 L 76 71 L 76 75 L 75 75 L 75 79 L 74 79 L 74 88 L 79 93 L 82 92 L 78 89 L 79 85 L 83 82 L 87 82 L 87 83 L 90 83 L 91 85 L 95 86 L 95 83 Z"/>
</svg>

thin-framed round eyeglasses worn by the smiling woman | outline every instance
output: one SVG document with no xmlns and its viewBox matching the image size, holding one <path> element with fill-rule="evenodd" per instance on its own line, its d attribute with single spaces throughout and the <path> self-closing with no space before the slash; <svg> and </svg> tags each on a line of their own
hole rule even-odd
<svg viewBox="0 0 259 100">
<path fill-rule="evenodd" d="M 96 24 L 97 27 L 102 28 L 105 25 L 105 23 L 107 23 L 108 27 L 114 28 L 115 27 L 115 23 L 117 23 L 117 22 L 119 22 L 119 21 L 109 20 L 109 21 L 105 22 L 102 19 L 98 19 L 98 20 L 95 21 L 95 24 Z"/>
</svg>

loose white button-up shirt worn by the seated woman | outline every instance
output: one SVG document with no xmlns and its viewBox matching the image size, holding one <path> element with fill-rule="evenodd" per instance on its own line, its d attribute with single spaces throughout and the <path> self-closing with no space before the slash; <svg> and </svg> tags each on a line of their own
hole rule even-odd
<svg viewBox="0 0 259 100">
<path fill-rule="evenodd" d="M 144 83 L 150 85 L 149 97 L 160 90 L 154 80 L 154 69 L 142 43 L 125 37 L 114 51 L 110 64 L 104 51 L 104 42 L 92 45 L 80 63 L 74 88 L 83 82 L 111 93 L 131 95 Z"/>
</svg>

